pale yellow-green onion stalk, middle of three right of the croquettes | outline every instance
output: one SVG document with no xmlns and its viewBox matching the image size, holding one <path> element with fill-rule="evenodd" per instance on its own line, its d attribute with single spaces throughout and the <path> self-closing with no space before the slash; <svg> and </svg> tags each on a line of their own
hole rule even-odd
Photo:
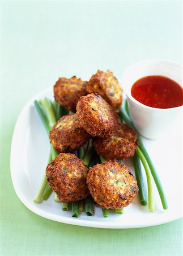
<svg viewBox="0 0 183 256">
<path fill-rule="evenodd" d="M 150 170 L 150 167 L 148 166 L 146 158 L 144 157 L 144 155 L 142 154 L 142 151 L 138 146 L 137 146 L 137 155 L 141 159 L 144 170 L 146 171 L 147 188 L 148 188 L 148 209 L 150 212 L 154 212 L 155 204 L 154 204 L 154 198 L 153 198 L 153 192 L 152 192 L 151 170 Z"/>
</svg>

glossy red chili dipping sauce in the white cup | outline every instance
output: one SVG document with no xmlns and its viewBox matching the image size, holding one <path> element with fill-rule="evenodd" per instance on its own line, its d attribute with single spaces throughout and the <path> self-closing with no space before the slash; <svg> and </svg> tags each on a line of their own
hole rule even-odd
<svg viewBox="0 0 183 256">
<path fill-rule="evenodd" d="M 133 84 L 131 95 L 152 108 L 168 109 L 183 104 L 181 86 L 165 76 L 142 77 Z"/>
</svg>

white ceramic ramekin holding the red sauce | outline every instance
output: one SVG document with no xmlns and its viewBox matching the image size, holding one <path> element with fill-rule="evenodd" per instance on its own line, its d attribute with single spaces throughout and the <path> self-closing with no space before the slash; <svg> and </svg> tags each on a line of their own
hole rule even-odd
<svg viewBox="0 0 183 256">
<path fill-rule="evenodd" d="M 131 119 L 139 134 L 146 138 L 156 139 L 172 123 L 182 106 L 169 109 L 151 108 L 143 105 L 131 96 L 131 86 L 144 76 L 160 75 L 169 77 L 182 86 L 182 66 L 178 63 L 162 59 L 139 61 L 126 68 L 120 84 L 126 93 L 130 106 Z M 181 115 L 180 115 L 181 118 Z"/>
</svg>

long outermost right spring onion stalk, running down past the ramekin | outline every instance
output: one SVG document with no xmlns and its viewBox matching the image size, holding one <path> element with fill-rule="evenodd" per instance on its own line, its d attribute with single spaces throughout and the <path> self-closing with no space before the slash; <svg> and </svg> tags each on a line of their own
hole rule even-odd
<svg viewBox="0 0 183 256">
<path fill-rule="evenodd" d="M 119 115 L 120 115 L 120 117 L 122 117 L 124 119 L 125 123 L 127 125 L 129 125 L 131 128 L 133 128 L 136 131 L 136 133 L 138 134 L 137 129 L 135 129 L 133 123 L 131 122 L 129 116 L 127 115 L 127 113 L 125 112 L 124 109 L 120 108 Z M 148 166 L 150 167 L 152 177 L 155 181 L 156 187 L 158 188 L 158 192 L 159 192 L 159 196 L 161 199 L 161 203 L 163 205 L 163 209 L 166 210 L 166 209 L 168 209 L 168 203 L 167 203 L 167 199 L 165 197 L 165 193 L 163 191 L 163 186 L 161 185 L 159 176 L 156 172 L 154 164 L 152 163 L 152 160 L 151 160 L 150 156 L 148 155 L 148 152 L 147 152 L 146 148 L 144 147 L 144 144 L 143 144 L 141 138 L 139 137 L 139 135 L 138 135 L 138 141 L 140 143 L 139 149 L 141 150 L 142 154 L 144 155 L 144 158 L 146 158 L 146 162 L 147 162 Z"/>
</svg>

